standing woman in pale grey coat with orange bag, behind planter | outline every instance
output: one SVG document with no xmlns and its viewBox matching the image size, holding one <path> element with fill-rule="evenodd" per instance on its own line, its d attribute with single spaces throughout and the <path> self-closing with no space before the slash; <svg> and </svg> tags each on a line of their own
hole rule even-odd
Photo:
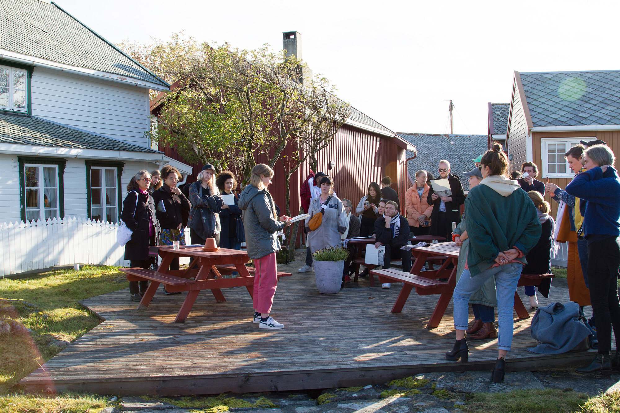
<svg viewBox="0 0 620 413">
<path fill-rule="evenodd" d="M 329 176 L 319 180 L 321 195 L 314 198 L 308 208 L 306 218 L 306 231 L 308 231 L 308 245 L 314 254 L 317 249 L 340 246 L 340 235 L 347 230 L 347 213 L 342 201 L 335 195 L 330 195 L 334 187 L 334 181 Z M 312 231 L 309 222 L 315 214 L 322 214 L 322 222 L 319 228 Z"/>
</svg>

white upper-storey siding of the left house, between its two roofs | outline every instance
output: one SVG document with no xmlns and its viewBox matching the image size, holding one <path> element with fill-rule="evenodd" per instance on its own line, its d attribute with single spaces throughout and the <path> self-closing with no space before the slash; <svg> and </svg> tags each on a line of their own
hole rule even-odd
<svg viewBox="0 0 620 413">
<path fill-rule="evenodd" d="M 139 146 L 150 146 L 148 90 L 36 68 L 32 115 Z"/>
</svg>

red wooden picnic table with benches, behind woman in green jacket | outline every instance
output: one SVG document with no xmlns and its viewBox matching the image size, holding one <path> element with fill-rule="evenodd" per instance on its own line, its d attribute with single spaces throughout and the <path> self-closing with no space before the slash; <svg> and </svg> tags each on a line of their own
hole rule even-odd
<svg viewBox="0 0 620 413">
<path fill-rule="evenodd" d="M 448 304 L 452 298 L 454 287 L 456 286 L 456 267 L 458 265 L 459 246 L 455 242 L 442 242 L 440 244 L 430 244 L 428 247 L 417 247 L 412 251 L 418 253 L 415 259 L 414 265 L 412 265 L 411 272 L 407 273 L 395 269 L 386 270 L 371 270 L 379 276 L 379 282 L 402 282 L 402 289 L 396 299 L 396 303 L 392 307 L 392 313 L 401 313 L 407 298 L 411 290 L 415 288 L 415 292 L 418 295 L 434 295 L 439 294 L 440 298 L 437 301 L 433 314 L 427 324 L 427 329 L 438 327 L 443 314 L 448 308 Z M 428 256 L 445 256 L 448 257 L 440 269 L 421 271 L 422 267 L 427 260 Z M 454 267 L 449 269 L 449 264 L 453 264 Z M 552 278 L 554 275 L 546 274 L 521 274 L 518 286 L 526 285 L 539 285 L 545 278 Z M 436 278 L 448 278 L 447 282 L 437 280 Z M 529 313 L 520 296 L 515 291 L 515 311 L 521 319 L 529 318 Z"/>
</svg>

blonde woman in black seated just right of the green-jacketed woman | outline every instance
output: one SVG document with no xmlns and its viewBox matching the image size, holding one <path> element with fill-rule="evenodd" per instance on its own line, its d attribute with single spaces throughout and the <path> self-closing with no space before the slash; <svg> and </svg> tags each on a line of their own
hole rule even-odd
<svg viewBox="0 0 620 413">
<path fill-rule="evenodd" d="M 551 271 L 551 249 L 553 246 L 553 231 L 556 222 L 549 215 L 551 205 L 542 198 L 540 192 L 534 190 L 528 192 L 529 199 L 534 203 L 538 214 L 538 220 L 541 223 L 541 236 L 536 245 L 529 250 L 529 254 L 525 256 L 528 264 L 523 267 L 525 274 L 546 274 Z M 542 280 L 538 286 L 538 291 L 545 297 L 549 297 L 549 288 L 551 288 L 551 278 Z M 525 295 L 529 296 L 529 305 L 531 308 L 538 308 L 538 298 L 536 298 L 536 290 L 533 285 L 525 287 Z"/>
</svg>

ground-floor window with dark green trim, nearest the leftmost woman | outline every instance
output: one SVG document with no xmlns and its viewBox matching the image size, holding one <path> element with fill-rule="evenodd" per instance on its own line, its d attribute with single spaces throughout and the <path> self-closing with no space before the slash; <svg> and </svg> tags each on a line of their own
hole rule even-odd
<svg viewBox="0 0 620 413">
<path fill-rule="evenodd" d="M 86 161 L 88 218 L 117 223 L 120 218 L 122 162 Z"/>
</svg>

